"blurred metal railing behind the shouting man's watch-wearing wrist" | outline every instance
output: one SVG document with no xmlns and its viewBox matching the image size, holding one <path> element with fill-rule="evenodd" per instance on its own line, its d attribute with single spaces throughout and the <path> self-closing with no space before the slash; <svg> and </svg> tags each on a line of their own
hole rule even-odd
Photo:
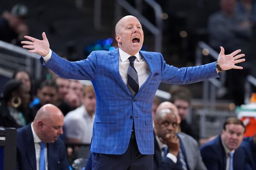
<svg viewBox="0 0 256 170">
<path fill-rule="evenodd" d="M 203 52 L 204 51 L 204 52 Z M 198 42 L 198 46 L 196 48 L 196 65 L 202 65 L 203 60 L 218 59 L 218 53 L 213 50 L 209 45 L 205 42 Z M 223 71 L 221 73 L 221 77 L 219 79 L 208 79 L 203 82 L 203 106 L 204 109 L 215 110 L 216 98 L 218 95 L 221 95 L 221 91 L 225 91 L 224 83 L 226 80 L 226 72 Z"/>
</svg>

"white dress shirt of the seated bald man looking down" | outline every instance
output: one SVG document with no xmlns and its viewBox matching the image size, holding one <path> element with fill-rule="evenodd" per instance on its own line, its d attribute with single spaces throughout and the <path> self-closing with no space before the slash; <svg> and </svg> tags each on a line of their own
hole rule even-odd
<svg viewBox="0 0 256 170">
<path fill-rule="evenodd" d="M 31 129 L 33 133 L 34 143 L 35 143 L 35 160 L 36 160 L 36 169 L 39 170 L 39 162 L 40 162 L 40 151 L 41 147 L 39 145 L 39 142 L 42 142 L 39 137 L 35 134 L 35 130 L 33 128 L 33 122 L 31 123 Z M 48 170 L 48 159 L 47 159 L 47 144 L 45 144 L 45 150 L 44 150 L 44 157 L 45 157 L 45 170 Z"/>
</svg>

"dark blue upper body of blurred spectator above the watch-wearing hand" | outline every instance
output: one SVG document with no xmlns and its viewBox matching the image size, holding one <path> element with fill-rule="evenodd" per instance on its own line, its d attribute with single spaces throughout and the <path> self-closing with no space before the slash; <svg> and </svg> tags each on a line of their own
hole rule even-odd
<svg viewBox="0 0 256 170">
<path fill-rule="evenodd" d="M 216 51 L 224 46 L 226 54 L 237 49 L 244 50 L 252 35 L 249 20 L 244 15 L 236 14 L 236 0 L 221 0 L 220 8 L 221 11 L 208 19 L 209 45 Z"/>
</svg>

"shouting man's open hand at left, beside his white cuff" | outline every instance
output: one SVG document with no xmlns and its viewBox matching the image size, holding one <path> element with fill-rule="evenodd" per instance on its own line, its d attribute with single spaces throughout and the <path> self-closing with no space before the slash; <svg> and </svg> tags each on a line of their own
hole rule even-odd
<svg viewBox="0 0 256 170">
<path fill-rule="evenodd" d="M 21 44 L 25 44 L 22 47 L 30 49 L 29 52 L 31 53 L 37 53 L 41 56 L 46 56 L 49 53 L 50 45 L 45 32 L 43 32 L 42 37 L 43 40 L 38 40 L 36 38 L 25 35 L 24 38 L 30 41 L 22 41 Z"/>
</svg>

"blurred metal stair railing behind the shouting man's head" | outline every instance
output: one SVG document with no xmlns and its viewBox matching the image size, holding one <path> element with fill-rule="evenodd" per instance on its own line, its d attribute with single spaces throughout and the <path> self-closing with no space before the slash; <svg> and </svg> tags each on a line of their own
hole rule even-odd
<svg viewBox="0 0 256 170">
<path fill-rule="evenodd" d="M 154 26 L 151 22 L 149 22 L 142 14 L 141 14 L 141 6 L 143 1 L 151 6 L 154 10 L 154 17 L 156 26 Z M 161 6 L 155 2 L 154 0 L 136 0 L 135 1 L 136 8 L 131 6 L 126 0 L 116 0 L 115 1 L 115 20 L 117 21 L 122 16 L 122 9 L 125 9 L 131 15 L 134 15 L 140 20 L 140 23 L 145 26 L 153 35 L 154 35 L 154 51 L 161 52 L 162 51 L 162 30 L 163 30 L 163 20 L 161 18 L 162 8 Z M 102 0 L 94 1 L 94 27 L 96 29 L 102 28 Z"/>
</svg>

